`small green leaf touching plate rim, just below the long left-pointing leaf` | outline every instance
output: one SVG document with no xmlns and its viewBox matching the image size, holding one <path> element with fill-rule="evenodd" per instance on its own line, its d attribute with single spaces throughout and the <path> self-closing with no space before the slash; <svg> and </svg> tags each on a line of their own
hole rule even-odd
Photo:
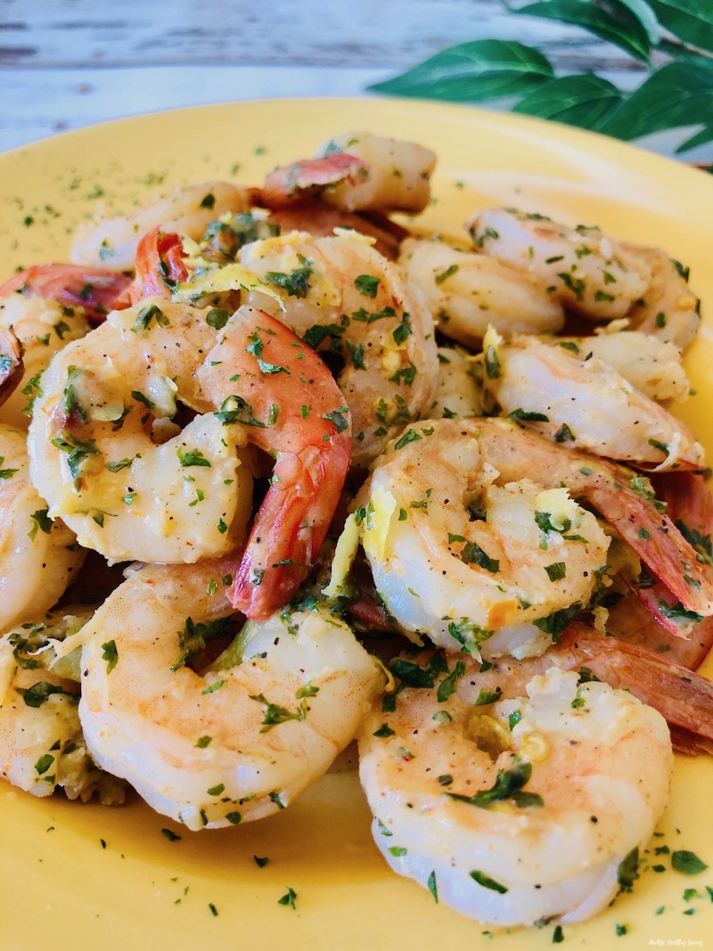
<svg viewBox="0 0 713 951">
<path fill-rule="evenodd" d="M 531 89 L 512 107 L 512 111 L 568 123 L 569 126 L 597 129 L 621 98 L 617 87 L 594 73 L 586 72 L 551 79 Z"/>
</svg>

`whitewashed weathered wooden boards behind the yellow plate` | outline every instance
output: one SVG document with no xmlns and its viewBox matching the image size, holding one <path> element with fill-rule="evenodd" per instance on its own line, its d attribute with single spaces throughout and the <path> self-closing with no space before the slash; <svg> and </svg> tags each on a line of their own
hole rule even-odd
<svg viewBox="0 0 713 951">
<path fill-rule="evenodd" d="M 183 106 L 367 87 L 455 43 L 519 39 L 633 84 L 581 29 L 501 0 L 0 0 L 0 151 Z"/>
</svg>

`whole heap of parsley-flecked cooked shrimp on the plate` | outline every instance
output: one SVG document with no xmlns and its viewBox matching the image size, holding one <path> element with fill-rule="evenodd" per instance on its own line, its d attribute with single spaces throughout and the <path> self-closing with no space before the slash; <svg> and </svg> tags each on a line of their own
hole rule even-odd
<svg viewBox="0 0 713 951">
<path fill-rule="evenodd" d="M 350 132 L 0 287 L 0 771 L 200 830 L 358 744 L 386 861 L 585 920 L 713 739 L 684 265 Z"/>
</svg>

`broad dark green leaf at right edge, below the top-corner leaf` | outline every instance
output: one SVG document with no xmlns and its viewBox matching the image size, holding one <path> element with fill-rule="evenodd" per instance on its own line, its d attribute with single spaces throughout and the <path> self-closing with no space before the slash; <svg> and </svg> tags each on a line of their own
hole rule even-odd
<svg viewBox="0 0 713 951">
<path fill-rule="evenodd" d="M 713 126 L 713 63 L 669 63 L 615 107 L 600 132 L 630 141 L 680 126 Z"/>
</svg>

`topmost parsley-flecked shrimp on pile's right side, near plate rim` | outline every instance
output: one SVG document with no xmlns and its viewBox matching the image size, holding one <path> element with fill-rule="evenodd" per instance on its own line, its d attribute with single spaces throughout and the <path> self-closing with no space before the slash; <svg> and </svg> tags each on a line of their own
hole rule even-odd
<svg viewBox="0 0 713 951">
<path fill-rule="evenodd" d="M 475 248 L 535 276 L 552 299 L 586 317 L 625 317 L 651 285 L 639 255 L 599 228 L 569 227 L 514 208 L 486 208 L 468 224 Z"/>
</svg>

